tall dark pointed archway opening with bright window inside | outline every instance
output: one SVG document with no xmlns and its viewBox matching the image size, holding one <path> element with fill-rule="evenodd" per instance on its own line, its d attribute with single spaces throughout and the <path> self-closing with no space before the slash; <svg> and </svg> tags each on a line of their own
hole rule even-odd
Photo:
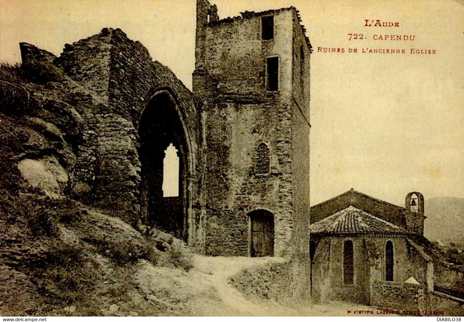
<svg viewBox="0 0 464 322">
<path fill-rule="evenodd" d="M 189 145 L 178 104 L 169 90 L 156 91 L 149 99 L 138 134 L 142 220 L 188 242 Z"/>
</svg>

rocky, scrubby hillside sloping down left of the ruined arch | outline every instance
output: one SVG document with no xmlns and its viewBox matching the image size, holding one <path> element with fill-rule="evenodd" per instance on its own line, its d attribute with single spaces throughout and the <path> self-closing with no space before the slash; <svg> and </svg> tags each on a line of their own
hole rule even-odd
<svg viewBox="0 0 464 322">
<path fill-rule="evenodd" d="M 81 112 L 98 95 L 22 46 L 34 64 L 0 65 L 0 315 L 182 315 L 185 298 L 142 285 L 147 271 L 189 270 L 184 243 L 75 193 L 77 161 L 95 161 Z"/>
</svg>

